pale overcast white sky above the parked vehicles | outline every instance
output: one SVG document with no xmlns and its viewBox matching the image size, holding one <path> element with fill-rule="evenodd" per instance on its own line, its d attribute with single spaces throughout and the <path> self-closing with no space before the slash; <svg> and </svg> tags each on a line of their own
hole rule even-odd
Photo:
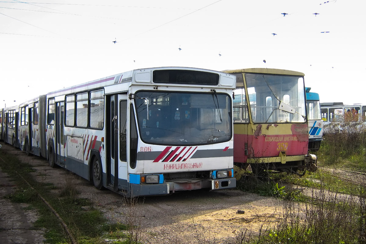
<svg viewBox="0 0 366 244">
<path fill-rule="evenodd" d="M 321 102 L 366 103 L 364 12 L 362 0 L 0 1 L 0 108 L 161 66 L 300 71 Z"/>
</svg>

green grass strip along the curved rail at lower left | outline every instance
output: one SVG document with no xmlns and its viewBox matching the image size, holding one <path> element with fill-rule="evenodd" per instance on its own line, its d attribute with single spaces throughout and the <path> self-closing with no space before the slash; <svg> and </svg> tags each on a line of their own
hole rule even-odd
<svg viewBox="0 0 366 244">
<path fill-rule="evenodd" d="M 67 224 L 79 244 L 128 244 L 129 239 L 122 224 L 107 224 L 107 219 L 93 203 L 86 198 L 78 198 L 78 191 L 72 179 L 67 177 L 65 188 L 59 188 L 59 195 L 50 190 L 55 189 L 53 184 L 42 184 L 33 179 L 30 172 L 35 172 L 30 164 L 20 162 L 16 157 L 5 150 L 0 151 L 1 169 L 8 173 L 15 180 L 16 190 L 13 194 L 6 196 L 13 202 L 28 203 L 29 209 L 36 209 L 39 217 L 34 228 L 46 229 L 44 236 L 46 243 L 64 244 L 70 243 L 68 237 L 56 216 L 49 210 L 46 204 L 38 198 L 37 191 L 51 204 Z M 25 183 L 20 175 L 28 181 L 34 189 Z M 109 241 L 105 241 L 108 239 Z M 115 241 L 114 241 L 115 240 Z"/>
</svg>

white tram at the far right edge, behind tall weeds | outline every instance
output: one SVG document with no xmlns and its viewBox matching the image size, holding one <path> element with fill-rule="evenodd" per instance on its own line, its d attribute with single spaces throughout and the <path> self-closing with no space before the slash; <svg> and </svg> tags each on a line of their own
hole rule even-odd
<svg viewBox="0 0 366 244">
<path fill-rule="evenodd" d="M 323 102 L 320 104 L 324 133 L 363 132 L 366 130 L 366 104 Z"/>
</svg>

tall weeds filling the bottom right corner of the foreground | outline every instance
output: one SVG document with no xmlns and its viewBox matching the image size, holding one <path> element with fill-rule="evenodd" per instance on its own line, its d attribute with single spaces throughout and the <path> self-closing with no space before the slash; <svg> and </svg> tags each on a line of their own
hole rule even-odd
<svg viewBox="0 0 366 244">
<path fill-rule="evenodd" d="M 310 203 L 283 201 L 279 222 L 257 244 L 358 244 L 358 198 L 342 198 L 322 189 Z M 316 196 L 315 196 L 316 195 Z"/>
</svg>

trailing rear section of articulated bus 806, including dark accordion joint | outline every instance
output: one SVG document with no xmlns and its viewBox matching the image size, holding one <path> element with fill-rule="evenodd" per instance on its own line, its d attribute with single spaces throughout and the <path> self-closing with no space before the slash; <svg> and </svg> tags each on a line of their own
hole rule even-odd
<svg viewBox="0 0 366 244">
<path fill-rule="evenodd" d="M 27 155 L 46 158 L 45 101 L 41 95 L 19 105 L 19 148 Z"/>
</svg>

